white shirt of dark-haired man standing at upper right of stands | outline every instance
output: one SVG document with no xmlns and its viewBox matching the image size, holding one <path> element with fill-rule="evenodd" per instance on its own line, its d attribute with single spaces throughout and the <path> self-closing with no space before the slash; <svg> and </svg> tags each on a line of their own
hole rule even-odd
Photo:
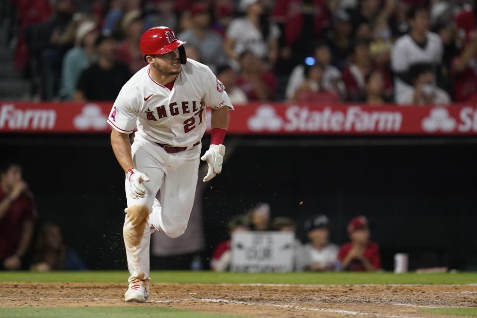
<svg viewBox="0 0 477 318">
<path fill-rule="evenodd" d="M 409 71 L 409 67 L 415 63 L 430 63 L 438 65 L 441 63 L 444 48 L 439 35 L 427 32 L 427 43 L 424 48 L 420 47 L 409 34 L 405 34 L 397 39 L 391 50 L 391 67 L 396 73 Z M 403 93 L 409 84 L 396 78 L 396 96 Z"/>
</svg>

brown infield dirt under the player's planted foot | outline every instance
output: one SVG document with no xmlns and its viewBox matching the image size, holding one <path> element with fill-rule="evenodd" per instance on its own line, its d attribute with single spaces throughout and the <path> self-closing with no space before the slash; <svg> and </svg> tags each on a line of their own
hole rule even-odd
<svg viewBox="0 0 477 318">
<path fill-rule="evenodd" d="M 477 307 L 477 285 L 154 284 L 146 304 L 125 284 L 2 283 L 0 307 L 160 306 L 248 317 L 450 317 L 425 308 Z"/>
</svg>

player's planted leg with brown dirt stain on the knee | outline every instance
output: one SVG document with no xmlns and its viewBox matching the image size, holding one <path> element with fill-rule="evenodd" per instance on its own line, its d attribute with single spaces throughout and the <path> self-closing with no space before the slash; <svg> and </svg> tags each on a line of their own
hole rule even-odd
<svg viewBox="0 0 477 318">
<path fill-rule="evenodd" d="M 139 285 L 147 293 L 150 281 L 149 247 L 151 240 L 148 219 L 152 211 L 154 199 L 163 181 L 164 172 L 160 168 L 160 158 L 158 159 L 156 156 L 150 155 L 143 149 L 133 147 L 132 150 L 136 168 L 146 173 L 150 181 L 142 183 L 146 188 L 146 194 L 144 198 L 138 199 L 133 199 L 130 196 L 129 181 L 127 179 L 125 181 L 128 207 L 123 226 L 123 238 L 130 273 L 128 279 L 130 289 L 128 289 L 128 292 L 133 287 L 142 290 L 140 287 L 135 287 Z M 135 294 L 140 294 L 140 291 L 133 290 L 131 292 L 132 299 L 130 300 L 142 301 L 141 299 L 134 299 Z M 126 300 L 128 300 L 127 297 Z"/>
</svg>

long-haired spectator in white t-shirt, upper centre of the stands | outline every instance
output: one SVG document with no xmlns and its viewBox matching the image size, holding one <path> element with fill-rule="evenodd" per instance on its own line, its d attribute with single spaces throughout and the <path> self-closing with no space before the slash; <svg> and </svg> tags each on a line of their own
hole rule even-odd
<svg viewBox="0 0 477 318">
<path fill-rule="evenodd" d="M 245 12 L 245 17 L 231 22 L 224 44 L 225 53 L 239 60 L 244 52 L 249 51 L 258 59 L 268 59 L 273 64 L 278 56 L 280 30 L 270 23 L 260 0 L 241 0 L 240 9 Z"/>
</svg>

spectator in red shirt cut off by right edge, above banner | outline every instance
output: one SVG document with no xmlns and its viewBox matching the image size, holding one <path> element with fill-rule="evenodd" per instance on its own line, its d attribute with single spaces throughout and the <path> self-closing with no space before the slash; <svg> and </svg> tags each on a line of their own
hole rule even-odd
<svg viewBox="0 0 477 318">
<path fill-rule="evenodd" d="M 471 33 L 462 53 L 452 62 L 456 102 L 477 101 L 477 34 Z"/>
</svg>

